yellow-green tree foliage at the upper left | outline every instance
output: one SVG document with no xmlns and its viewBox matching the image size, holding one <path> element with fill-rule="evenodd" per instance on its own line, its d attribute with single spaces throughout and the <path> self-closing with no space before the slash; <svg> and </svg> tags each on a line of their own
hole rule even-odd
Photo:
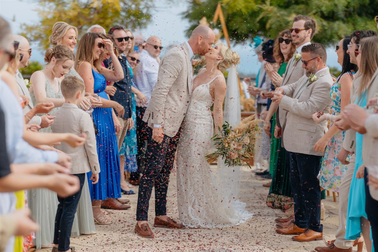
<svg viewBox="0 0 378 252">
<path fill-rule="evenodd" d="M 64 21 L 76 26 L 79 36 L 95 24 L 106 30 L 113 25 L 128 28 L 141 28 L 150 20 L 152 0 L 35 0 L 40 21 L 36 24 L 23 24 L 24 35 L 39 42 L 40 47 L 48 48 L 48 37 L 54 23 Z"/>
</svg>

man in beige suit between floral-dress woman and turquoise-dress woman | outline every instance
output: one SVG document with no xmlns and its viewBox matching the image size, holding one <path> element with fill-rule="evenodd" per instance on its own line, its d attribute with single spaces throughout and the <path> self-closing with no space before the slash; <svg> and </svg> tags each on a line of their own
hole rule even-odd
<svg viewBox="0 0 378 252">
<path fill-rule="evenodd" d="M 358 65 L 356 54 L 353 53 L 355 50 L 358 49 L 358 45 L 360 40 L 364 37 L 372 37 L 376 36 L 376 33 L 374 31 L 361 31 L 357 30 L 354 31 L 350 35 L 350 42 L 347 45 L 347 53 L 350 57 L 350 63 Z M 340 50 L 340 49 L 339 49 Z M 345 50 L 345 49 L 344 49 Z M 358 96 L 358 93 L 355 92 L 355 90 L 358 90 L 358 87 L 360 85 L 361 78 L 358 74 L 358 72 L 355 74 L 355 78 L 353 79 L 352 89 L 350 90 L 350 103 L 355 103 L 356 98 Z M 335 123 L 338 125 L 338 123 Z M 350 187 L 352 183 L 353 177 L 355 177 L 355 167 L 358 168 L 356 160 L 356 155 L 353 154 L 355 152 L 355 145 L 356 142 L 356 134 L 355 131 L 352 129 L 345 132 L 344 136 L 344 142 L 342 144 L 342 148 L 340 149 L 339 153 L 337 154 L 336 158 L 339 160 L 340 163 L 347 165 L 347 170 L 344 174 L 344 178 L 341 181 L 341 184 L 339 185 L 339 227 L 338 230 L 335 233 L 336 240 L 330 241 L 330 244 L 328 247 L 316 247 L 315 250 L 319 252 L 332 252 L 332 251 L 350 251 L 353 246 L 358 246 L 358 250 L 362 251 L 363 247 L 363 237 L 355 240 L 358 238 L 358 235 L 356 238 L 347 238 L 345 236 L 345 226 L 347 223 L 347 209 L 350 199 Z M 347 160 L 349 156 L 349 160 Z M 361 219 L 363 225 L 368 225 L 367 219 L 362 218 Z M 361 226 L 360 224 L 358 224 Z M 366 229 L 365 229 L 366 230 Z M 367 230 L 369 233 L 369 231 Z M 361 232 L 360 232 L 361 233 Z M 366 233 L 366 232 L 365 232 Z M 369 241 L 368 241 L 369 243 Z M 369 244 L 367 244 L 369 246 Z"/>
</svg>

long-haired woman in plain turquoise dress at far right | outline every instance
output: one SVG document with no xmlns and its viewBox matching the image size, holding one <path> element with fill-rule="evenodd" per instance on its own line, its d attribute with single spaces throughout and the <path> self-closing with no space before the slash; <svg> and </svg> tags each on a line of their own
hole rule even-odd
<svg viewBox="0 0 378 252">
<path fill-rule="evenodd" d="M 361 40 L 360 47 L 356 51 L 356 60 L 358 63 L 359 71 L 359 86 L 355 87 L 355 92 L 358 92 L 358 97 L 355 101 L 355 104 L 358 104 L 360 107 L 366 107 L 367 103 L 367 89 L 369 88 L 368 84 L 370 78 L 367 77 L 367 73 L 374 73 L 376 69 L 364 69 L 370 68 L 369 64 L 361 64 L 361 51 L 364 51 L 367 55 L 370 48 L 364 48 L 364 40 Z M 366 40 L 365 40 L 366 41 Z M 350 52 L 355 53 L 355 52 Z M 364 170 L 363 160 L 362 160 L 362 148 L 363 148 L 363 135 L 356 132 L 356 164 L 355 171 L 353 173 L 352 182 L 350 184 L 349 191 L 349 201 L 348 201 L 348 211 L 347 211 L 347 224 L 345 231 L 345 239 L 354 240 L 360 236 L 360 233 L 363 233 L 364 241 L 366 244 L 366 249 L 368 252 L 373 251 L 372 243 L 370 240 L 370 224 L 367 221 L 367 214 L 365 211 L 365 182 L 364 179 L 357 179 L 356 174 L 360 173 L 361 170 Z M 358 171 L 360 170 L 360 171 Z M 362 176 L 363 177 L 363 176 Z"/>
</svg>

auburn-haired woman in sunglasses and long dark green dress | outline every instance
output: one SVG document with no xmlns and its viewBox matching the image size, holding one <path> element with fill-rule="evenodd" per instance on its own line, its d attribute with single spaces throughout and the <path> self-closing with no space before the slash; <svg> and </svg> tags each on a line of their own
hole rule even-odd
<svg viewBox="0 0 378 252">
<path fill-rule="evenodd" d="M 279 76 L 282 76 L 283 73 L 285 73 L 288 67 L 288 61 L 291 59 L 291 57 L 293 57 L 296 50 L 292 41 L 293 40 L 291 39 L 291 33 L 289 30 L 284 30 L 279 33 L 276 41 L 274 42 L 273 56 L 276 59 L 276 62 L 280 64 L 280 67 L 277 72 L 274 72 L 273 68 L 270 68 L 270 76 L 272 76 L 273 73 Z M 274 89 L 277 87 L 273 83 L 272 86 Z M 271 129 L 274 129 L 275 126 L 276 106 L 275 103 L 272 103 L 265 118 L 265 133 L 271 135 Z M 281 137 L 271 138 L 270 170 L 273 170 L 273 179 L 266 202 L 270 207 L 280 208 L 285 211 L 288 210 L 288 208 L 290 208 L 293 204 L 293 195 L 291 193 L 289 182 L 290 163 L 286 158 L 286 150 L 281 146 L 281 142 Z"/>
</svg>

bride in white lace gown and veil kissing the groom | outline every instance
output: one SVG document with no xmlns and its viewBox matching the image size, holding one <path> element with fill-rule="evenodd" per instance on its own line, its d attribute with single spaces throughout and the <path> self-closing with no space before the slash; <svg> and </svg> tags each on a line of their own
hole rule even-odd
<svg viewBox="0 0 378 252">
<path fill-rule="evenodd" d="M 226 167 L 218 159 L 212 171 L 209 153 L 213 125 L 215 134 L 223 119 L 231 125 L 240 121 L 240 95 L 236 65 L 238 53 L 221 43 L 205 55 L 207 67 L 193 80 L 192 97 L 177 146 L 177 201 L 180 221 L 186 227 L 213 228 L 238 225 L 253 214 L 237 201 L 240 167 Z M 228 81 L 223 73 L 230 68 Z M 223 101 L 225 100 L 225 118 Z M 214 124 L 210 107 L 214 104 Z"/>
</svg>

